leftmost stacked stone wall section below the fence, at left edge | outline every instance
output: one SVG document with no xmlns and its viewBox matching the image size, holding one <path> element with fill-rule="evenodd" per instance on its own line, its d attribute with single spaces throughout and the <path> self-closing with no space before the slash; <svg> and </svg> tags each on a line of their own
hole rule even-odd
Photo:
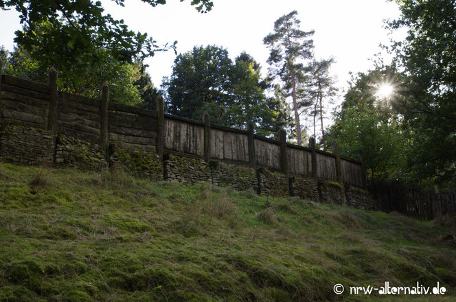
<svg viewBox="0 0 456 302">
<path fill-rule="evenodd" d="M 0 134 L 0 159 L 18 165 L 52 165 L 54 137 L 49 131 L 7 126 Z"/>
</svg>

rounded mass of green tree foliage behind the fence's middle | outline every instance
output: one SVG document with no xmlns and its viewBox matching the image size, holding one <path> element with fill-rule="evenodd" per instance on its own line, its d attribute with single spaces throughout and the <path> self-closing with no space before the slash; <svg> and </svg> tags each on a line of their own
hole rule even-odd
<svg viewBox="0 0 456 302">
<path fill-rule="evenodd" d="M 277 108 L 264 95 L 267 84 L 260 66 L 248 54 L 235 62 L 222 47 L 194 47 L 174 60 L 172 75 L 163 81 L 168 113 L 201 120 L 207 111 L 213 124 L 247 128 L 269 135 Z"/>
</svg>

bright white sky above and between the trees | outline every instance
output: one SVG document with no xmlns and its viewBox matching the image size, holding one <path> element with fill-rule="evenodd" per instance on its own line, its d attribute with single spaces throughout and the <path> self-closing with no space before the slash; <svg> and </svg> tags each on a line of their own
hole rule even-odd
<svg viewBox="0 0 456 302">
<path fill-rule="evenodd" d="M 273 32 L 280 16 L 297 10 L 301 30 L 315 30 L 315 58 L 335 58 L 332 75 L 338 79 L 341 97 L 350 71 L 367 71 L 373 66 L 369 59 L 381 51 L 380 43 L 404 38 L 404 32 L 391 36 L 384 28 L 385 19 L 400 16 L 398 5 L 387 0 L 214 0 L 207 14 L 198 13 L 190 0 L 168 0 L 155 8 L 139 0 L 125 2 L 122 8 L 113 0 L 102 0 L 106 12 L 124 19 L 130 30 L 147 32 L 159 45 L 177 40 L 178 54 L 200 45 L 225 47 L 232 59 L 246 51 L 260 62 L 263 75 L 269 56 L 264 36 Z M 0 11 L 0 45 L 10 50 L 14 31 L 21 27 L 18 16 L 14 10 Z M 388 62 L 389 56 L 383 56 Z M 166 51 L 146 59 L 155 86 L 171 75 L 175 57 L 174 51 Z"/>
</svg>

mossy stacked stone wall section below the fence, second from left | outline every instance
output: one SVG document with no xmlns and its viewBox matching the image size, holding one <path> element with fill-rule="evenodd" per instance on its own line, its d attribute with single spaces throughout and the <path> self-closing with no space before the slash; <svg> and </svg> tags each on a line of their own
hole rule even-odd
<svg viewBox="0 0 456 302">
<path fill-rule="evenodd" d="M 77 167 L 82 170 L 104 170 L 106 154 L 97 143 L 59 135 L 56 145 L 56 167 Z"/>
</svg>

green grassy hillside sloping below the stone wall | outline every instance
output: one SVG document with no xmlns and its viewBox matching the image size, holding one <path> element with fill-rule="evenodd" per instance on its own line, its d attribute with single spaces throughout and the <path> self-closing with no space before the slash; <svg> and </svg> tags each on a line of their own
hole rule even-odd
<svg viewBox="0 0 456 302">
<path fill-rule="evenodd" d="M 0 163 L 0 301 L 455 301 L 451 226 Z M 340 296 L 333 286 L 446 286 Z"/>
</svg>

